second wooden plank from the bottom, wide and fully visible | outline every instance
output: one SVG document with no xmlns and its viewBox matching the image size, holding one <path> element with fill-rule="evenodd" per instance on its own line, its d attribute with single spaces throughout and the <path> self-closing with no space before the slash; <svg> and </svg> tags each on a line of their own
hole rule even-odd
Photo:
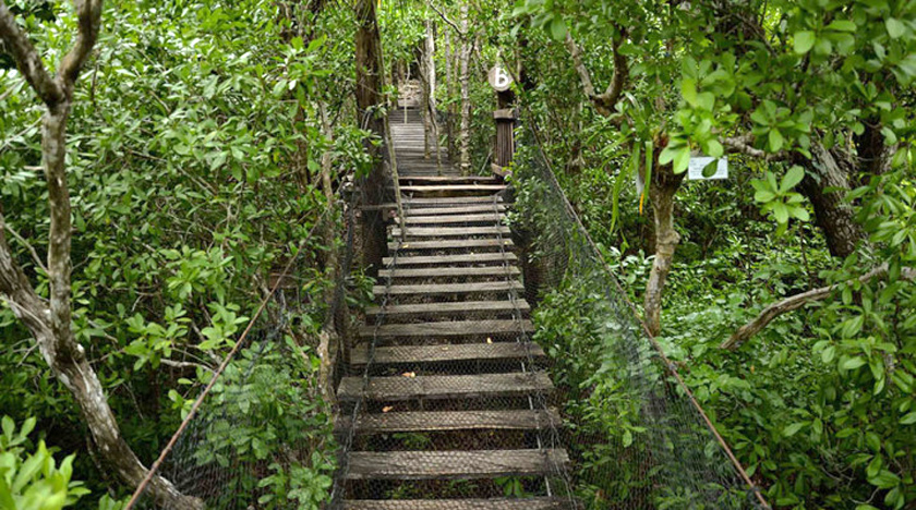
<svg viewBox="0 0 916 510">
<path fill-rule="evenodd" d="M 455 479 L 556 473 L 566 450 L 353 451 L 348 479 Z"/>
</svg>

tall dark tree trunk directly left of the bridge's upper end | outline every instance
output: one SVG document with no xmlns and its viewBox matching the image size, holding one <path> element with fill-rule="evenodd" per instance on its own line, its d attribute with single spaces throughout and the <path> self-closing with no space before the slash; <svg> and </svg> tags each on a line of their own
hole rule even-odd
<svg viewBox="0 0 916 510">
<path fill-rule="evenodd" d="M 378 108 L 382 105 L 382 39 L 375 15 L 375 0 L 358 0 L 357 13 L 357 120 L 361 127 L 385 139 L 385 120 Z M 374 163 L 369 174 L 359 182 L 362 205 L 377 206 L 385 199 L 385 167 L 378 147 L 365 141 L 366 151 Z M 363 266 L 373 274 L 387 254 L 385 221 L 377 208 L 365 208 L 360 215 Z"/>
</svg>

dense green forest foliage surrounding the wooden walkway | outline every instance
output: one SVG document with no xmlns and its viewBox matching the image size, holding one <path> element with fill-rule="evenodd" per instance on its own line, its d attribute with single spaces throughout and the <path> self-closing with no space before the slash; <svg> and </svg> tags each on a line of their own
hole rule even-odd
<svg viewBox="0 0 916 510">
<path fill-rule="evenodd" d="M 686 472 L 650 467 L 678 446 L 640 391 L 687 396 L 625 363 L 650 336 L 773 508 L 916 508 L 916 1 L 0 0 L 0 508 L 122 508 L 146 467 L 111 448 L 155 461 L 277 288 L 201 414 L 227 436 L 171 473 L 213 464 L 218 486 L 248 462 L 257 508 L 327 501 L 334 323 L 378 262 L 341 258 L 372 217 L 340 204 L 384 187 L 379 119 L 408 83 L 466 173 L 491 172 L 493 111 L 518 112 L 513 223 L 557 235 L 531 240 L 555 277 L 534 339 L 589 508 L 699 508 L 651 483 Z M 590 240 L 526 182 L 542 156 Z M 688 179 L 700 156 L 727 179 Z"/>
</svg>

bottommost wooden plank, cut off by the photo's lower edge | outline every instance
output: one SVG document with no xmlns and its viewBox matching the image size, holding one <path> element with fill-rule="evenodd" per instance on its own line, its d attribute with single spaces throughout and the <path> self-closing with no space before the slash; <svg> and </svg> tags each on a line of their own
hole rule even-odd
<svg viewBox="0 0 916 510">
<path fill-rule="evenodd" d="M 343 510 L 571 510 L 581 508 L 569 498 L 492 499 L 348 499 Z"/>
</svg>

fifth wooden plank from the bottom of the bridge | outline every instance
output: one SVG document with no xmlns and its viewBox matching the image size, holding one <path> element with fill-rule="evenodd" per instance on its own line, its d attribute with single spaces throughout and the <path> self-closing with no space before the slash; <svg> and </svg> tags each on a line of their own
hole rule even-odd
<svg viewBox="0 0 916 510">
<path fill-rule="evenodd" d="M 451 363 L 466 361 L 527 360 L 545 357 L 544 350 L 533 342 L 460 343 L 455 345 L 377 347 L 373 364 Z M 361 343 L 350 354 L 351 365 L 369 363 L 369 345 Z"/>
</svg>

